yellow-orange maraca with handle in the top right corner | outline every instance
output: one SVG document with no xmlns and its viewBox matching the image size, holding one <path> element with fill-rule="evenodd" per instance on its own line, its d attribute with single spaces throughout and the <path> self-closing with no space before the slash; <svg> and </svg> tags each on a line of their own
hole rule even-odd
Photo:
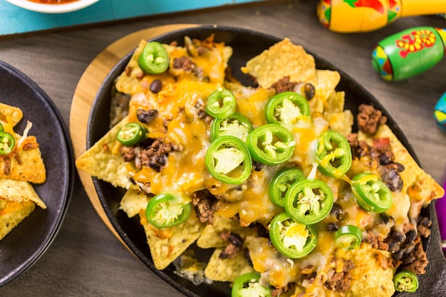
<svg viewBox="0 0 446 297">
<path fill-rule="evenodd" d="M 320 0 L 318 19 L 342 33 L 383 28 L 398 18 L 446 12 L 445 0 Z"/>
</svg>

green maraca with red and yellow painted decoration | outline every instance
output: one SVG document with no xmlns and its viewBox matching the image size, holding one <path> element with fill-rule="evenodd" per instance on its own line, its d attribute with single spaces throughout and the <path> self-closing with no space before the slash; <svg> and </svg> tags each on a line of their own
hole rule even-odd
<svg viewBox="0 0 446 297">
<path fill-rule="evenodd" d="M 445 56 L 446 29 L 415 27 L 378 43 L 372 65 L 385 80 L 404 80 L 439 63 Z"/>
</svg>

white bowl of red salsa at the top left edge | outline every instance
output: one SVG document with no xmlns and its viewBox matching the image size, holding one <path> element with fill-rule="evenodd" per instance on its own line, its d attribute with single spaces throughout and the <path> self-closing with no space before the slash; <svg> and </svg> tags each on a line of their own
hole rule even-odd
<svg viewBox="0 0 446 297">
<path fill-rule="evenodd" d="M 6 0 L 11 4 L 47 14 L 61 14 L 77 11 L 98 2 L 99 0 Z"/>
</svg>

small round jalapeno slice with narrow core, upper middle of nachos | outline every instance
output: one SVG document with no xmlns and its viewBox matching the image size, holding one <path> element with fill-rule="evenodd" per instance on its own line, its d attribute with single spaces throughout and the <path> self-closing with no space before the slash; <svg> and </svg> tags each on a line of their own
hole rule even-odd
<svg viewBox="0 0 446 297">
<path fill-rule="evenodd" d="M 234 94 L 225 88 L 218 88 L 207 98 L 206 112 L 214 118 L 227 118 L 236 107 Z"/>
</svg>

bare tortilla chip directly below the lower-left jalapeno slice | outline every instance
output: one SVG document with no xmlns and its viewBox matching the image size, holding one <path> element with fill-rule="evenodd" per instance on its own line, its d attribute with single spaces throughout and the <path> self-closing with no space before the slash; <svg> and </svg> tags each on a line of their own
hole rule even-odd
<svg viewBox="0 0 446 297">
<path fill-rule="evenodd" d="M 186 222 L 167 229 L 157 229 L 145 218 L 145 210 L 140 212 L 140 222 L 145 230 L 155 268 L 162 270 L 172 263 L 191 244 L 204 229 L 195 212 L 190 214 Z"/>
</svg>

